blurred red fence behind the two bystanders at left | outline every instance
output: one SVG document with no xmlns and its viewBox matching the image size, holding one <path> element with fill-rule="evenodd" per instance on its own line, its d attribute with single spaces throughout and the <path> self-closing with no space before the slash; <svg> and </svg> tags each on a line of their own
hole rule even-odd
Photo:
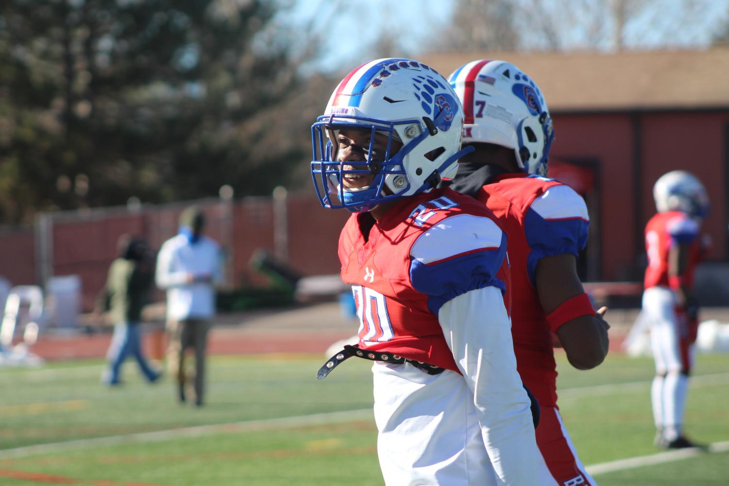
<svg viewBox="0 0 729 486">
<path fill-rule="evenodd" d="M 45 213 L 34 228 L 0 230 L 0 277 L 23 285 L 52 275 L 79 275 L 83 307 L 90 310 L 117 254 L 117 238 L 141 235 L 159 249 L 177 232 L 179 214 L 193 203 L 206 213 L 206 234 L 225 251 L 230 285 L 265 283 L 249 267 L 259 248 L 283 257 L 302 275 L 338 273 L 338 235 L 348 213 L 325 210 L 303 194 L 282 200 L 284 211 L 274 210 L 272 197 L 247 197 L 230 203 L 206 199 Z"/>
</svg>

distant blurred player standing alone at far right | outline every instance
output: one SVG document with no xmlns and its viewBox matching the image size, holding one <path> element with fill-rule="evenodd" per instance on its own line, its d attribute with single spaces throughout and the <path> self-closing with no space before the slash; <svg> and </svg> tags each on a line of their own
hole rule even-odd
<svg viewBox="0 0 729 486">
<path fill-rule="evenodd" d="M 695 447 L 682 432 L 693 343 L 698 332 L 698 305 L 693 272 L 705 245 L 699 235 L 709 211 L 709 197 L 698 179 L 685 171 L 660 176 L 653 186 L 658 214 L 645 227 L 648 267 L 643 313 L 650 321 L 655 359 L 651 388 L 659 447 Z"/>
</svg>

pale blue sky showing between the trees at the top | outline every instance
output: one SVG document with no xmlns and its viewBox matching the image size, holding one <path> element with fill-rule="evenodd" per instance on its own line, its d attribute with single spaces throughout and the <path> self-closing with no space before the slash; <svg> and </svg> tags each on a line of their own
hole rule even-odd
<svg viewBox="0 0 729 486">
<path fill-rule="evenodd" d="M 416 56 L 433 39 L 437 39 L 439 31 L 451 21 L 453 6 L 459 0 L 289 1 L 293 2 L 293 7 L 287 9 L 282 17 L 293 26 L 321 37 L 324 52 L 314 68 L 331 72 L 377 57 L 372 47 L 383 34 L 394 36 L 404 55 Z M 513 0 L 514 4 L 524 8 L 535 1 Z M 729 22 L 729 0 L 634 1 L 649 4 L 651 8 L 626 22 L 624 33 L 628 48 L 707 47 L 714 32 Z M 555 18 L 560 17 L 562 12 L 559 9 L 565 3 L 566 0 L 542 1 Z M 520 28 L 523 28 L 523 48 L 538 50 L 543 46 L 529 35 L 529 18 L 529 15 L 523 15 L 518 19 Z M 584 48 L 588 42 L 585 31 L 586 27 L 580 23 L 565 26 L 561 35 L 566 47 Z M 609 50 L 609 47 L 606 42 L 601 46 L 602 50 Z"/>
</svg>

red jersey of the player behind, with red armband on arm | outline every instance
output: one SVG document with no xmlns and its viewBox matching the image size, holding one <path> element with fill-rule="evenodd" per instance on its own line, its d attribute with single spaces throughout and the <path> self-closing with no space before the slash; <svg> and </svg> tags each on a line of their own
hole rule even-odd
<svg viewBox="0 0 729 486">
<path fill-rule="evenodd" d="M 508 235 L 512 336 L 517 368 L 539 404 L 556 406 L 556 364 L 550 326 L 539 303 L 534 272 L 545 256 L 585 247 L 589 218 L 582 197 L 554 179 L 504 174 L 477 194 Z"/>
</svg>

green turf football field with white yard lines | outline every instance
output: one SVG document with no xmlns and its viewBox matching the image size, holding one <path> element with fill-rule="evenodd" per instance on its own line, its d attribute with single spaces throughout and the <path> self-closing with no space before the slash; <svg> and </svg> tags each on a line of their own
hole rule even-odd
<svg viewBox="0 0 729 486">
<path fill-rule="evenodd" d="M 323 358 L 211 358 L 200 409 L 130 361 L 111 389 L 100 361 L 0 369 L 0 485 L 382 485 L 370 364 L 317 381 Z M 687 455 L 652 444 L 650 358 L 612 353 L 589 372 L 561 358 L 559 370 L 564 422 L 601 486 L 729 485 L 729 355 L 697 358 L 685 428 L 719 444 Z"/>
</svg>

